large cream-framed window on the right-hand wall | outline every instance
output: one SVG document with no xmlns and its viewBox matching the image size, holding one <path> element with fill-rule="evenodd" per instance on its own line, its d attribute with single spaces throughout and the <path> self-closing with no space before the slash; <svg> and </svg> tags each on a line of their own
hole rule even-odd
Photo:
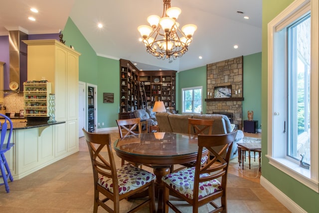
<svg viewBox="0 0 319 213">
<path fill-rule="evenodd" d="M 268 24 L 266 155 L 271 165 L 316 192 L 319 52 L 313 47 L 319 40 L 318 5 L 295 0 Z"/>
</svg>

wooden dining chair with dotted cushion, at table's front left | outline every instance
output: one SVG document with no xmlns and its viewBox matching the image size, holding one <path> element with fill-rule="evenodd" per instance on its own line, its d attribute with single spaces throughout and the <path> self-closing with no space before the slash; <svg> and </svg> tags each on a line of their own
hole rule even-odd
<svg viewBox="0 0 319 213">
<path fill-rule="evenodd" d="M 93 167 L 93 212 L 97 213 L 98 207 L 101 206 L 107 212 L 119 213 L 121 200 L 146 190 L 148 199 L 130 212 L 136 212 L 146 205 L 149 205 L 150 212 L 155 212 L 155 175 L 130 164 L 116 169 L 110 134 L 90 133 L 85 129 L 82 131 L 89 147 Z M 107 154 L 102 154 L 105 147 Z M 107 159 L 104 156 L 107 156 Z M 102 198 L 100 194 L 103 195 Z M 109 203 L 106 204 L 109 200 L 113 202 L 113 209 Z"/>
</svg>

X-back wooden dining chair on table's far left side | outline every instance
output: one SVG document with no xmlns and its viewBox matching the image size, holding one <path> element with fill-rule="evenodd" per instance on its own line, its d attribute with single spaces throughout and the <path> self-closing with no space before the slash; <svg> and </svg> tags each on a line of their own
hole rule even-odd
<svg viewBox="0 0 319 213">
<path fill-rule="evenodd" d="M 131 118 L 131 119 L 120 119 L 116 120 L 119 127 L 120 138 L 128 135 L 137 135 L 142 133 L 141 118 Z M 138 133 L 134 132 L 138 128 Z M 129 162 L 135 166 L 139 166 L 137 163 Z M 122 159 L 122 166 L 125 161 Z M 142 166 L 141 166 L 142 168 Z"/>
</svg>

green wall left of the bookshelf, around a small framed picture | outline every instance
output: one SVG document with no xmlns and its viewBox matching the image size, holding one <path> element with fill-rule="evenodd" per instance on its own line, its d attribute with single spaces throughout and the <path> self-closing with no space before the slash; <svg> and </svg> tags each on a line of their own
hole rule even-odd
<svg viewBox="0 0 319 213">
<path fill-rule="evenodd" d="M 119 118 L 120 103 L 119 60 L 97 56 L 71 18 L 68 19 L 62 33 L 66 45 L 72 45 L 76 51 L 81 53 L 79 81 L 98 86 L 97 122 L 101 124 L 101 128 L 116 127 L 115 120 Z M 103 92 L 114 93 L 114 103 L 103 103 Z"/>
</svg>

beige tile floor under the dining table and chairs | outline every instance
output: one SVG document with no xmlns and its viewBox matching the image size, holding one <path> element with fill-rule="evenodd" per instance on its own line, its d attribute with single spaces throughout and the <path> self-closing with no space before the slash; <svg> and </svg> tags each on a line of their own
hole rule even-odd
<svg viewBox="0 0 319 213">
<path fill-rule="evenodd" d="M 119 137 L 116 131 L 110 133 L 112 141 Z M 5 193 L 4 186 L 0 186 L 0 212 L 92 213 L 93 176 L 84 138 L 80 138 L 79 146 L 80 152 L 10 182 L 10 193 Z M 115 158 L 117 166 L 120 166 L 121 160 L 116 155 Z M 228 213 L 289 213 L 259 184 L 257 162 L 252 163 L 250 171 L 245 168 L 243 174 L 238 168 L 237 160 L 233 159 L 228 175 Z M 137 202 L 140 201 L 121 201 L 121 212 L 128 211 Z M 185 203 L 178 200 L 175 202 L 183 213 L 191 213 L 191 208 Z M 104 211 L 99 208 L 99 212 Z M 149 211 L 146 208 L 140 212 Z M 207 213 L 208 206 L 201 207 L 199 212 Z"/>
</svg>

